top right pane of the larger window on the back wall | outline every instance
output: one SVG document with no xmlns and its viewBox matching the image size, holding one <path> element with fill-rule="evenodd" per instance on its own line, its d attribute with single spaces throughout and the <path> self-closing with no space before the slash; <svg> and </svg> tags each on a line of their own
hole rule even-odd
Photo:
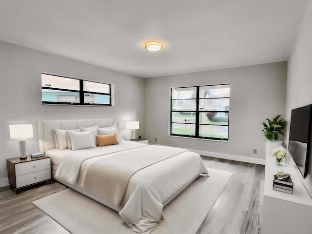
<svg viewBox="0 0 312 234">
<path fill-rule="evenodd" d="M 199 98 L 229 98 L 230 85 L 212 85 L 199 87 Z"/>
</svg>

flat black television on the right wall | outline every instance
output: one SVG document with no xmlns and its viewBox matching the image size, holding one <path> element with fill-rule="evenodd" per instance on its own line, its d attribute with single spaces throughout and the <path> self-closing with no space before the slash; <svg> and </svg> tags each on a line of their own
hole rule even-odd
<svg viewBox="0 0 312 234">
<path fill-rule="evenodd" d="M 307 105 L 292 110 L 288 151 L 303 178 L 308 175 L 311 141 L 311 107 Z"/>
</svg>

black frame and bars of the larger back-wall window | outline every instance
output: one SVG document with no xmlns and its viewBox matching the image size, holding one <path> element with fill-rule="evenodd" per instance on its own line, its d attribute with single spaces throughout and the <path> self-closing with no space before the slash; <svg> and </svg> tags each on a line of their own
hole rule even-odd
<svg viewBox="0 0 312 234">
<path fill-rule="evenodd" d="M 187 138 L 195 138 L 195 139 L 209 139 L 209 140 L 221 140 L 221 141 L 229 141 L 229 126 L 230 126 L 230 110 L 228 111 L 206 111 L 206 110 L 199 110 L 199 100 L 200 99 L 220 99 L 220 98 L 199 98 L 199 89 L 200 87 L 207 87 L 207 86 L 220 86 L 220 85 L 230 85 L 230 83 L 226 83 L 226 84 L 213 84 L 213 85 L 198 85 L 198 86 L 186 86 L 186 87 L 173 87 L 170 88 L 170 136 L 174 136 L 174 137 L 187 137 Z M 179 88 L 196 88 L 196 98 L 172 98 L 172 89 L 179 89 Z M 229 97 L 226 97 L 230 100 L 230 95 Z M 190 100 L 190 99 L 196 99 L 196 110 L 184 110 L 184 111 L 176 111 L 173 110 L 172 108 L 172 101 L 173 100 Z M 183 124 L 180 122 L 172 122 L 172 114 L 174 112 L 193 112 L 195 113 L 195 123 L 187 123 L 187 124 L 194 124 L 195 125 L 195 136 L 194 135 L 183 135 L 183 134 L 173 134 L 172 133 L 172 124 L 176 123 L 176 124 Z M 208 112 L 212 112 L 212 113 L 227 113 L 228 114 L 228 125 L 222 125 L 222 124 L 200 124 L 199 123 L 199 114 L 200 113 L 208 113 Z M 184 123 L 186 124 L 186 123 Z M 210 126 L 227 126 L 228 127 L 228 138 L 218 138 L 218 137 L 202 137 L 199 136 L 199 125 L 210 125 Z"/>
</svg>

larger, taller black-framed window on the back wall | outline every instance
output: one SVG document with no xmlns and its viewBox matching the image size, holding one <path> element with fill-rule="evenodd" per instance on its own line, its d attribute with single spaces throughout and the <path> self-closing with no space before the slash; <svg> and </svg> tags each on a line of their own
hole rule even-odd
<svg viewBox="0 0 312 234">
<path fill-rule="evenodd" d="M 230 84 L 171 89 L 171 136 L 229 139 Z"/>
</svg>

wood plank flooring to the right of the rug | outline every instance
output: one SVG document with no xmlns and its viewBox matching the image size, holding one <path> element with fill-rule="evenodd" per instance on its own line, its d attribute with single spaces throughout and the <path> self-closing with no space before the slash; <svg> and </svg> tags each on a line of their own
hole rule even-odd
<svg viewBox="0 0 312 234">
<path fill-rule="evenodd" d="M 265 166 L 202 156 L 207 167 L 233 172 L 197 234 L 261 234 Z"/>
</svg>

